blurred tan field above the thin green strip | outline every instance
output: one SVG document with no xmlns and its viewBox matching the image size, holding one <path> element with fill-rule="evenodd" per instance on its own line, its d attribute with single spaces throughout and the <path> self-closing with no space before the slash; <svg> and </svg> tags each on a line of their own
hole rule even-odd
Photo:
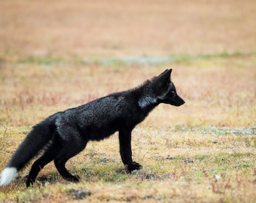
<svg viewBox="0 0 256 203">
<path fill-rule="evenodd" d="M 1 54 L 169 56 L 254 52 L 256 2 L 2 1 Z"/>
</svg>

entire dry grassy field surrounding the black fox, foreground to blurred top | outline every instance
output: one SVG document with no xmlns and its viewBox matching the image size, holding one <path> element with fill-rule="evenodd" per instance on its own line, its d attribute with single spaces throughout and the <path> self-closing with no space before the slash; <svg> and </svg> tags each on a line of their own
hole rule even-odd
<svg viewBox="0 0 256 203">
<path fill-rule="evenodd" d="M 172 68 L 186 101 L 160 105 L 133 131 L 126 173 L 117 134 L 53 163 L 0 202 L 254 202 L 256 2 L 2 1 L 0 170 L 32 126 L 56 111 L 130 89 Z"/>
</svg>

